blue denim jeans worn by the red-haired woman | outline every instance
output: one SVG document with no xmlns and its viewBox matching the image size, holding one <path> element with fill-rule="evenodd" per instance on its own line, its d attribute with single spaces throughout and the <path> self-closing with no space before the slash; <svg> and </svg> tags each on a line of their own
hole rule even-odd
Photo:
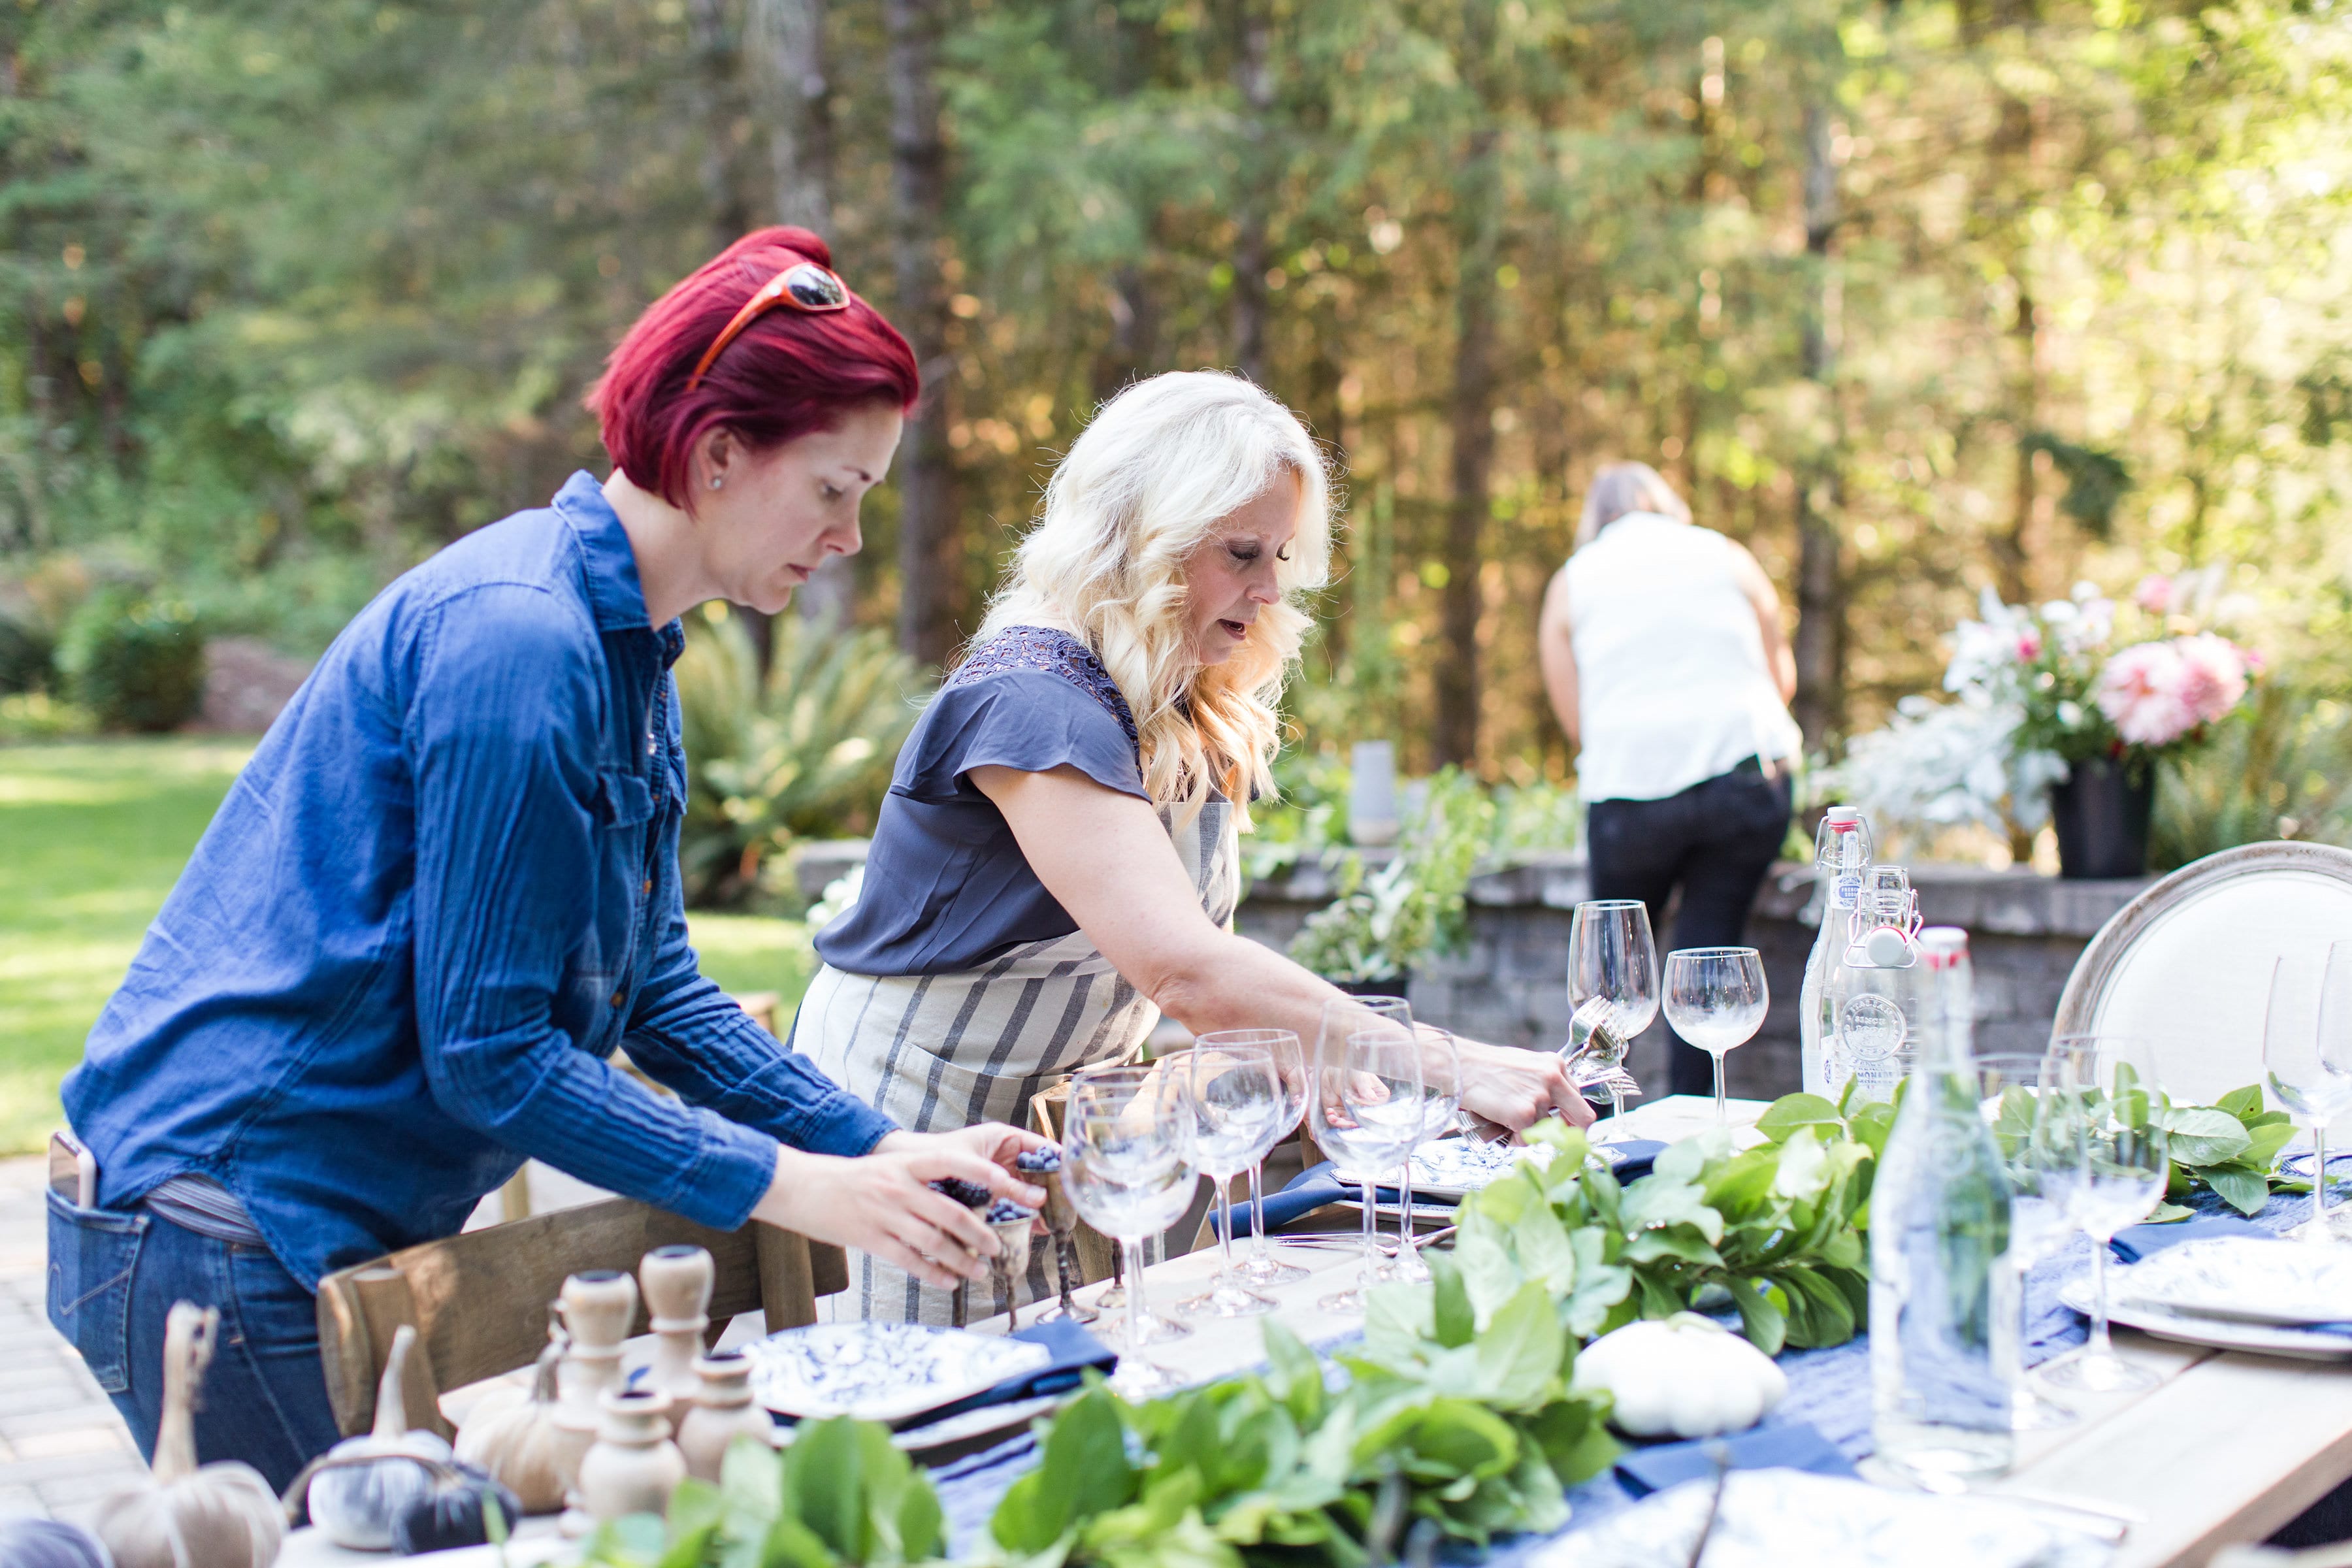
<svg viewBox="0 0 2352 1568">
<path fill-rule="evenodd" d="M 245 1460 L 275 1490 L 334 1446 L 318 1361 L 318 1298 L 261 1246 L 216 1241 L 134 1208 L 49 1199 L 49 1321 L 89 1363 L 155 1458 L 162 1420 L 162 1326 L 172 1302 L 221 1309 L 195 1408 L 195 1458 Z"/>
</svg>

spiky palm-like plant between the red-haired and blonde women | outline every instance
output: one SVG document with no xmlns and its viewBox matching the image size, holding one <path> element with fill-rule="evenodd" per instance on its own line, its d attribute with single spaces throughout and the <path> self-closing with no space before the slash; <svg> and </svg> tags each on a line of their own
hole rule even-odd
<svg viewBox="0 0 2352 1568">
<path fill-rule="evenodd" d="M 797 839 L 873 832 L 929 682 L 887 632 L 774 618 L 767 679 L 743 621 L 687 618 L 677 701 L 687 738 L 680 870 L 694 905 L 741 903 Z"/>
</svg>

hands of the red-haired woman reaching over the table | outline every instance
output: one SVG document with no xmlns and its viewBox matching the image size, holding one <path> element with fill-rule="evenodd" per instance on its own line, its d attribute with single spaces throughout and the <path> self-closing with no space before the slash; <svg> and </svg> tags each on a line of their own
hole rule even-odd
<svg viewBox="0 0 2352 1568">
<path fill-rule="evenodd" d="M 753 1218 L 873 1253 L 946 1291 L 960 1279 L 985 1279 L 1002 1248 L 978 1213 L 929 1182 L 955 1175 L 1037 1208 L 1044 1192 L 1000 1159 L 1040 1145 L 1037 1133 L 983 1121 L 953 1133 L 894 1131 L 858 1159 L 779 1147 L 776 1180 Z"/>
</svg>

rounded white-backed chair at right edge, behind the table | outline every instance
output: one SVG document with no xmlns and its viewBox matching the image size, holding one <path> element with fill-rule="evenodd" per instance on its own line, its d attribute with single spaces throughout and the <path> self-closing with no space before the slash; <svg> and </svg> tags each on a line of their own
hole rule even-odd
<svg viewBox="0 0 2352 1568">
<path fill-rule="evenodd" d="M 2352 851 L 2244 844 L 2183 865 L 2098 929 L 2053 1034 L 2129 1034 L 2176 1100 L 2263 1081 L 2270 969 L 2293 943 L 2352 933 Z"/>
</svg>

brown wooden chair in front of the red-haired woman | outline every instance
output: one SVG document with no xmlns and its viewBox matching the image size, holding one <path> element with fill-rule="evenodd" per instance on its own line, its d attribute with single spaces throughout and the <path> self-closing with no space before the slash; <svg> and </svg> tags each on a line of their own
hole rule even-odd
<svg viewBox="0 0 2352 1568">
<path fill-rule="evenodd" d="M 607 1199 L 470 1229 L 336 1269 L 318 1284 L 318 1347 L 327 1401 L 346 1434 L 376 1420 L 376 1378 L 393 1333 L 409 1324 L 402 1394 L 409 1420 L 449 1434 L 440 1396 L 529 1366 L 548 1342 L 548 1302 L 567 1274 L 637 1272 L 656 1246 L 710 1251 L 710 1338 L 741 1312 L 764 1312 L 769 1333 L 816 1321 L 816 1298 L 849 1288 L 842 1248 L 774 1225 L 708 1229 L 652 1204 Z M 630 1333 L 647 1333 L 644 1305 Z"/>
</svg>

